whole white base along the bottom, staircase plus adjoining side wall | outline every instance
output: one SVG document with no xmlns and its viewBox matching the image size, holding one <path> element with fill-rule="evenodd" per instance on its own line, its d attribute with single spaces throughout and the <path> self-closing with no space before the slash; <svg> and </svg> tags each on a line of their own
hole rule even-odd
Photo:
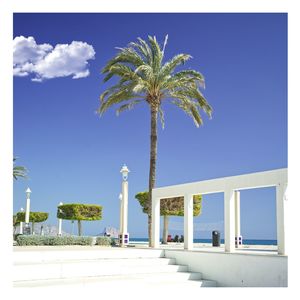
<svg viewBox="0 0 300 300">
<path fill-rule="evenodd" d="M 239 251 L 239 253 L 238 253 Z M 285 287 L 287 256 L 99 246 L 15 246 L 14 287 L 92 286 L 196 292 L 203 286 Z M 245 251 L 246 252 L 246 251 Z M 161 295 L 161 294 L 159 294 Z M 175 298 L 177 299 L 177 297 Z"/>
</svg>

